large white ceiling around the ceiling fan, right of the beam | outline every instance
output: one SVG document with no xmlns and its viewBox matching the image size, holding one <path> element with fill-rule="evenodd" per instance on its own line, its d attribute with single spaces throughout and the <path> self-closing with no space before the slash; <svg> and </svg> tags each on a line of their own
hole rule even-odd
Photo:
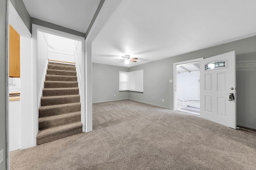
<svg viewBox="0 0 256 170">
<path fill-rule="evenodd" d="M 124 66 L 128 54 L 134 66 L 255 35 L 256 0 L 122 0 L 92 61 Z"/>
</svg>

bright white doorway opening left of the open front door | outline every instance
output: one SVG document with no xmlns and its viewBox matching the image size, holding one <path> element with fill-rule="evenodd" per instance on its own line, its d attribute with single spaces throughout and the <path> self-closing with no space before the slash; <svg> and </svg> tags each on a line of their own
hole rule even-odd
<svg viewBox="0 0 256 170">
<path fill-rule="evenodd" d="M 200 59 L 174 63 L 174 110 L 200 115 Z"/>
</svg>

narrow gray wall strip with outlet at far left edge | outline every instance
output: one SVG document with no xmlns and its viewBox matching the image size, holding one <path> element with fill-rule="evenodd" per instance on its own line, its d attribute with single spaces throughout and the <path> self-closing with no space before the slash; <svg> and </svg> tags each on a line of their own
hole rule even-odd
<svg viewBox="0 0 256 170">
<path fill-rule="evenodd" d="M 6 0 L 0 1 L 0 151 L 4 150 L 4 160 L 0 170 L 6 169 L 6 92 L 5 92 L 5 61 L 6 61 Z"/>
</svg>

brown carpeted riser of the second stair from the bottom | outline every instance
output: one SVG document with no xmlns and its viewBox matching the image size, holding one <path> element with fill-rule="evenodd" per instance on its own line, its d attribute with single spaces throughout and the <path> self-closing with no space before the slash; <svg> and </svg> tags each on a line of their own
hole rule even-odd
<svg viewBox="0 0 256 170">
<path fill-rule="evenodd" d="M 57 126 L 61 126 L 69 123 L 80 122 L 80 121 L 81 121 L 81 115 L 74 115 L 72 117 L 58 119 L 58 121 L 56 120 L 39 121 L 38 126 L 39 126 L 39 130 L 45 130 L 48 128 L 53 128 L 53 127 L 57 127 Z"/>
</svg>

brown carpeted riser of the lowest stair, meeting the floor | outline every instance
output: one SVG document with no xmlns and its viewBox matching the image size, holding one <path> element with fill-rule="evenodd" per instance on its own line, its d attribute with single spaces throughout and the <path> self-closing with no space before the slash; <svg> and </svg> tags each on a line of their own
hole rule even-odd
<svg viewBox="0 0 256 170">
<path fill-rule="evenodd" d="M 72 129 L 72 130 L 68 130 L 66 132 L 54 134 L 54 135 L 51 135 L 51 136 L 45 136 L 45 137 L 42 137 L 42 138 L 38 138 L 38 136 L 37 136 L 36 144 L 38 145 L 38 144 L 43 144 L 43 143 L 46 143 L 46 142 L 52 142 L 54 140 L 65 138 L 67 136 L 72 136 L 72 135 L 78 134 L 78 133 L 82 133 L 82 127 L 75 128 L 75 129 Z"/>
</svg>

